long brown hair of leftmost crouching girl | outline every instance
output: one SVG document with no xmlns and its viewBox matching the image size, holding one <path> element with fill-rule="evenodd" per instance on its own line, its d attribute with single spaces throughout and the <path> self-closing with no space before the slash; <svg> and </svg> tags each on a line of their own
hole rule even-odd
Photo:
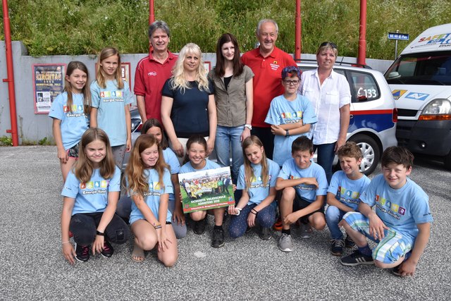
<svg viewBox="0 0 451 301">
<path fill-rule="evenodd" d="M 75 162 L 73 167 L 73 173 L 81 183 L 88 182 L 94 171 L 94 166 L 92 161 L 90 161 L 85 154 L 85 147 L 89 145 L 89 143 L 99 140 L 105 143 L 106 156 L 99 163 L 100 165 L 100 176 L 104 179 L 112 178 L 114 175 L 114 171 L 116 169 L 116 164 L 113 159 L 113 152 L 111 151 L 110 140 L 108 139 L 108 135 L 101 130 L 100 128 L 88 128 L 85 133 L 82 135 L 82 139 L 80 140 L 80 151 L 78 152 L 78 160 Z"/>
</svg>

